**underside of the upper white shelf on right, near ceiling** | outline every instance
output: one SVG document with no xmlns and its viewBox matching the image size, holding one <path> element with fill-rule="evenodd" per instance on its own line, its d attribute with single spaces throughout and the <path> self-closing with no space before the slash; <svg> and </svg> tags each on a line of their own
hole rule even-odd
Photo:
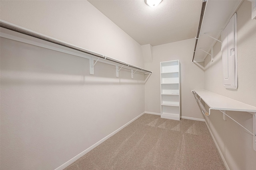
<svg viewBox="0 0 256 170">
<path fill-rule="evenodd" d="M 204 62 L 206 57 L 211 56 L 213 61 L 213 45 L 220 42 L 219 37 L 222 29 L 236 12 L 242 0 L 207 0 L 202 20 L 202 26 L 198 37 L 198 43 L 194 51 L 192 62 Z"/>
</svg>

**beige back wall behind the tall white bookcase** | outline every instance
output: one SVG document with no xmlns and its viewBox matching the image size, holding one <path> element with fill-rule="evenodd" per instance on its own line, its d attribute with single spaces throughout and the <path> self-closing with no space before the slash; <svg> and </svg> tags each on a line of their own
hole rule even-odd
<svg viewBox="0 0 256 170">
<path fill-rule="evenodd" d="M 152 63 L 145 68 L 153 74 L 145 84 L 145 111 L 160 113 L 160 62 L 180 60 L 181 116 L 204 119 L 191 90 L 204 89 L 204 70 L 191 62 L 195 39 L 154 46 Z"/>
</svg>

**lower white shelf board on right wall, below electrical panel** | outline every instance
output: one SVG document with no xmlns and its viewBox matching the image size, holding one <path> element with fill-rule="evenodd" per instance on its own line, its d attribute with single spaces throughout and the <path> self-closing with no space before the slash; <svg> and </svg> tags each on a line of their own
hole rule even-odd
<svg viewBox="0 0 256 170">
<path fill-rule="evenodd" d="M 214 110 L 256 112 L 256 107 L 237 100 L 210 92 L 208 90 L 194 90 L 204 102 Z"/>
</svg>

